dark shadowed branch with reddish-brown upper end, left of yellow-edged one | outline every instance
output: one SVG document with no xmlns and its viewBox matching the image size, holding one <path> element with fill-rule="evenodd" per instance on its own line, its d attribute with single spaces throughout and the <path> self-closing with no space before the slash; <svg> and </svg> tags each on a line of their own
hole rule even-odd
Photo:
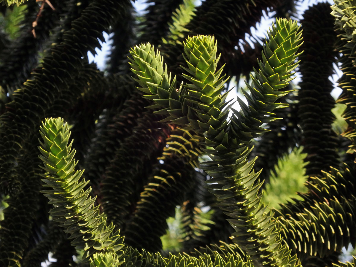
<svg viewBox="0 0 356 267">
<path fill-rule="evenodd" d="M 138 125 L 115 152 L 101 181 L 104 212 L 120 229 L 125 227 L 171 130 L 157 122 L 161 116 L 150 113 L 146 111 L 137 119 Z"/>
</svg>

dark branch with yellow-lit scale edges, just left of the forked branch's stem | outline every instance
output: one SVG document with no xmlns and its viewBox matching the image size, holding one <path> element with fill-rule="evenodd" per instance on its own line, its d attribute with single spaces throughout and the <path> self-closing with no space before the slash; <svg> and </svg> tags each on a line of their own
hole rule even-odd
<svg viewBox="0 0 356 267">
<path fill-rule="evenodd" d="M 124 230 L 128 236 L 127 245 L 147 248 L 147 251 L 162 249 L 160 237 L 166 232 L 166 220 L 174 215 L 176 206 L 183 202 L 185 192 L 193 187 L 194 173 L 185 171 L 190 166 L 186 166 L 176 155 L 163 160 L 163 166 L 153 172 L 154 176 L 141 193 L 137 209 Z"/>
</svg>

